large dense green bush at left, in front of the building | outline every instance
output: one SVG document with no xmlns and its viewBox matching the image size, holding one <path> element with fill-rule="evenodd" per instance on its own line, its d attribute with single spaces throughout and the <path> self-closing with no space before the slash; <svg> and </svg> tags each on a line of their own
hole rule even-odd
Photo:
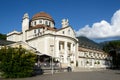
<svg viewBox="0 0 120 80">
<path fill-rule="evenodd" d="M 19 48 L 0 49 L 0 71 L 4 78 L 20 78 L 32 76 L 35 54 Z"/>
</svg>

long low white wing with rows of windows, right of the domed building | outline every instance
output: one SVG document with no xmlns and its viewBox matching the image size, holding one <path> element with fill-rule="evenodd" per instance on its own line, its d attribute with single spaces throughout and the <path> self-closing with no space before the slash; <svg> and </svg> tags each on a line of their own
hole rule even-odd
<svg viewBox="0 0 120 80">
<path fill-rule="evenodd" d="M 106 68 L 110 67 L 110 57 L 101 50 L 79 47 L 78 66 L 81 68 Z"/>
</svg>

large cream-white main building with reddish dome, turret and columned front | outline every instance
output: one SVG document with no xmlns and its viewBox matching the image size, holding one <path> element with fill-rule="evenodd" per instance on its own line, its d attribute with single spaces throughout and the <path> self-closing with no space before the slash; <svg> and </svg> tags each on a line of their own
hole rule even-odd
<svg viewBox="0 0 120 80">
<path fill-rule="evenodd" d="M 61 63 L 72 64 L 72 66 L 76 66 L 76 62 L 78 62 L 78 67 L 82 67 L 85 65 L 84 61 L 87 60 L 85 58 L 87 51 L 84 53 L 78 50 L 78 39 L 74 30 L 69 26 L 68 19 L 63 19 L 61 29 L 56 29 L 55 21 L 45 12 L 35 14 L 32 19 L 29 19 L 27 13 L 24 14 L 22 32 L 12 31 L 8 33 L 7 40 L 23 42 L 39 52 L 38 55 L 49 55 Z M 91 55 L 94 54 L 91 53 Z M 100 53 L 100 56 L 103 55 Z M 79 56 L 83 58 L 79 58 Z M 94 58 L 89 59 L 89 61 L 92 60 L 96 61 Z M 102 60 L 105 61 L 104 58 L 101 58 Z"/>
</svg>

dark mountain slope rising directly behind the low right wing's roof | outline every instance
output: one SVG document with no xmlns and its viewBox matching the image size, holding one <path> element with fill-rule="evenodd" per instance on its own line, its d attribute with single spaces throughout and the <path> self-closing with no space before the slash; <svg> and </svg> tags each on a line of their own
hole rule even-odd
<svg viewBox="0 0 120 80">
<path fill-rule="evenodd" d="M 79 46 L 81 46 L 81 47 L 102 50 L 101 45 L 99 45 L 98 43 L 96 43 L 96 42 L 94 42 L 86 37 L 79 36 L 79 37 L 77 37 L 77 39 L 79 40 Z"/>
</svg>

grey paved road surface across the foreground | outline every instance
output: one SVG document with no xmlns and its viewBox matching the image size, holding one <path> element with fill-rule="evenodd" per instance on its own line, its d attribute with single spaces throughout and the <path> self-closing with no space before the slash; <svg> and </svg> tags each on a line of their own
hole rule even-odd
<svg viewBox="0 0 120 80">
<path fill-rule="evenodd" d="M 7 79 L 7 80 L 120 80 L 120 71 L 89 71 L 89 72 L 64 72 L 44 74 L 30 78 Z"/>
</svg>

